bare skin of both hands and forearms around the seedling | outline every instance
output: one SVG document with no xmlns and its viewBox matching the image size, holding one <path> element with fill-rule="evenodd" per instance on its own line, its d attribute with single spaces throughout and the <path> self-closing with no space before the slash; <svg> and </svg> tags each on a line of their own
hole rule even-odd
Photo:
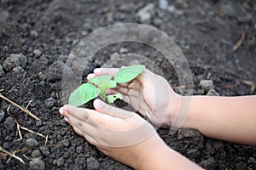
<svg viewBox="0 0 256 170">
<path fill-rule="evenodd" d="M 114 75 L 118 70 L 96 69 L 87 78 Z M 148 70 L 134 81 L 109 91 L 110 94 L 116 92 L 123 94 L 124 100 L 140 114 L 162 127 L 172 126 L 179 106 L 189 99 L 190 109 L 182 127 L 195 128 L 214 139 L 256 145 L 256 96 L 180 96 L 163 77 Z M 107 156 L 136 169 L 201 168 L 169 148 L 154 128 L 137 114 L 112 107 L 99 99 L 94 101 L 94 106 L 96 111 L 64 105 L 60 113 L 76 133 Z M 145 128 L 140 128 L 138 135 L 116 133 L 129 132 L 143 127 L 141 125 Z"/>
</svg>

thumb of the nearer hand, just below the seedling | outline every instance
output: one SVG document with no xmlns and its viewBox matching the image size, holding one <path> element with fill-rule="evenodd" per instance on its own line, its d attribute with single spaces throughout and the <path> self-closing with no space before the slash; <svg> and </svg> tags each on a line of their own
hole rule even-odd
<svg viewBox="0 0 256 170">
<path fill-rule="evenodd" d="M 125 111 L 111 105 L 106 104 L 101 99 L 95 99 L 93 102 L 94 108 L 96 111 L 99 111 L 103 114 L 108 114 L 109 116 L 119 117 L 119 118 L 127 118 L 133 116 L 135 113 L 131 111 Z"/>
</svg>

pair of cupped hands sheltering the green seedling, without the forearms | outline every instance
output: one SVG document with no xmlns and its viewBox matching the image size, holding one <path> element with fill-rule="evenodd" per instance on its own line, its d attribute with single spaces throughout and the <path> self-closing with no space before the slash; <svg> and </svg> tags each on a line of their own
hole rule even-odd
<svg viewBox="0 0 256 170">
<path fill-rule="evenodd" d="M 112 75 L 118 68 L 100 68 L 90 73 L 87 79 Z M 140 161 L 147 161 L 157 146 L 165 145 L 154 127 L 142 116 L 147 116 L 156 127 L 171 127 L 175 107 L 180 96 L 165 78 L 145 69 L 131 82 L 109 89 L 108 94 L 120 93 L 124 101 L 136 112 L 125 111 L 95 99 L 95 110 L 64 105 L 61 115 L 90 144 L 96 145 L 107 156 L 139 168 Z"/>
</svg>

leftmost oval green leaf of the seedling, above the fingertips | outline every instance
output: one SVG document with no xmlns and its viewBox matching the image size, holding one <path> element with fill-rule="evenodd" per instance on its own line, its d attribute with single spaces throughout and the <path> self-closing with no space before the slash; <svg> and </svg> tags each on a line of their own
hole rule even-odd
<svg viewBox="0 0 256 170">
<path fill-rule="evenodd" d="M 100 94 L 100 89 L 90 83 L 84 83 L 70 94 L 68 103 L 74 106 L 84 105 L 90 99 L 95 99 Z"/>
</svg>

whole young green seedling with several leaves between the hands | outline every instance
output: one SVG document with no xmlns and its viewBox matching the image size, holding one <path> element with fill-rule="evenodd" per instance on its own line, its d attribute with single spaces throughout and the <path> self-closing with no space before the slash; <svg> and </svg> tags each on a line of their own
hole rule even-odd
<svg viewBox="0 0 256 170">
<path fill-rule="evenodd" d="M 70 94 L 68 103 L 70 105 L 84 105 L 91 99 L 100 96 L 102 100 L 108 99 L 108 103 L 113 103 L 116 99 L 123 99 L 122 94 L 109 94 L 108 89 L 116 88 L 118 83 L 130 82 L 143 72 L 145 65 L 131 65 L 119 70 L 114 77 L 103 75 L 90 79 L 89 83 L 84 83 Z"/>
</svg>

